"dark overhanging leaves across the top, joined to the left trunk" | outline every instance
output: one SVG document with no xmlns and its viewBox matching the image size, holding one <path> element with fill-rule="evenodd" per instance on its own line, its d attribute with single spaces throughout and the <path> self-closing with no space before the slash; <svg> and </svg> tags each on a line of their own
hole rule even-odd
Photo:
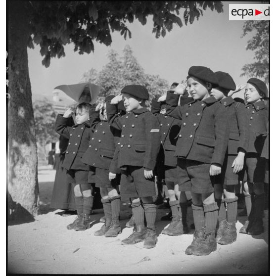
<svg viewBox="0 0 276 276">
<path fill-rule="evenodd" d="M 111 45 L 111 32 L 131 38 L 127 23 L 134 19 L 145 25 L 152 16 L 152 33 L 164 37 L 174 24 L 192 24 L 208 9 L 223 12 L 221 1 L 29 1 L 29 47 L 40 45 L 46 67 L 52 57 L 65 56 L 64 45 L 74 43 L 80 54 L 94 51 L 93 42 Z"/>
</svg>

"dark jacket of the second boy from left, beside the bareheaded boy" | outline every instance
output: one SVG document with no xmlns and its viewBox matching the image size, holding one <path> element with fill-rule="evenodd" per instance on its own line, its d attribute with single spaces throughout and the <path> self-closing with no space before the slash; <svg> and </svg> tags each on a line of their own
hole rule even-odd
<svg viewBox="0 0 276 276">
<path fill-rule="evenodd" d="M 119 174 L 117 160 L 113 157 L 121 132 L 111 127 L 106 121 L 99 122 L 99 111 L 90 109 L 90 120 L 92 120 L 93 135 L 82 161 L 93 167 Z"/>
</svg>

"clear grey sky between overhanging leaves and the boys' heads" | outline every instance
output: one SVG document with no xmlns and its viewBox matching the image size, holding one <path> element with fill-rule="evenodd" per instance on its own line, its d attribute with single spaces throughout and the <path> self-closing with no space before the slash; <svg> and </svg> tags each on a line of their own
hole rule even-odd
<svg viewBox="0 0 276 276">
<path fill-rule="evenodd" d="M 181 28 L 175 25 L 165 38 L 155 38 L 153 22 L 148 17 L 144 26 L 138 20 L 128 25 L 131 39 L 125 40 L 114 32 L 111 46 L 94 42 L 94 52 L 90 54 L 80 55 L 74 52 L 73 45 L 65 46 L 66 56 L 51 59 L 48 68 L 42 65 L 39 46 L 28 49 L 32 93 L 51 97 L 54 87 L 79 83 L 84 72 L 91 68 L 101 70 L 108 61 L 106 53 L 110 49 L 122 54 L 126 45 L 131 46 L 145 73 L 159 75 L 169 83 L 181 82 L 193 65 L 207 66 L 214 72 L 225 71 L 236 85 L 245 83 L 247 78 L 241 78 L 240 74 L 242 66 L 253 61 L 254 53 L 246 50 L 252 34 L 241 38 L 244 22 L 229 21 L 229 3 L 232 2 L 223 3 L 223 13 L 208 9 L 193 24 Z"/>
</svg>

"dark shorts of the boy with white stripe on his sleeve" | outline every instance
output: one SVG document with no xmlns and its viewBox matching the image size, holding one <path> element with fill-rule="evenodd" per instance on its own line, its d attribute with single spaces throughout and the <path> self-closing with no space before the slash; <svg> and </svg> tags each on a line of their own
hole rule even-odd
<svg viewBox="0 0 276 276">
<path fill-rule="evenodd" d="M 122 170 L 121 194 L 127 197 L 156 195 L 154 177 L 146 179 L 143 167 L 127 166 L 127 170 Z"/>
</svg>

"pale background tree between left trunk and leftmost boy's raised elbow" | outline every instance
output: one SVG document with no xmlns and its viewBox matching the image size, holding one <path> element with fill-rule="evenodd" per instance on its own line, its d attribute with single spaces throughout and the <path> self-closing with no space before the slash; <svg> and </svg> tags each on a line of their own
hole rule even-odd
<svg viewBox="0 0 276 276">
<path fill-rule="evenodd" d="M 46 144 L 58 141 L 59 135 L 54 131 L 56 112 L 53 105 L 46 98 L 33 103 L 35 131 L 37 142 L 41 145 L 44 156 L 46 156 Z"/>
</svg>

